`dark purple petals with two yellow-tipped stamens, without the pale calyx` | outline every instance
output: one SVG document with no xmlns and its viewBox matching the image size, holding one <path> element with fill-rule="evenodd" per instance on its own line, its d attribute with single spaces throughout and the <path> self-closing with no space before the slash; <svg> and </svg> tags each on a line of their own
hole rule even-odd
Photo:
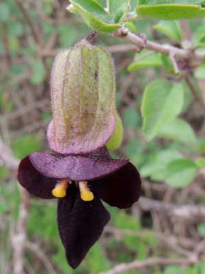
<svg viewBox="0 0 205 274">
<path fill-rule="evenodd" d="M 128 208 L 141 191 L 135 166 L 128 160 L 111 159 L 105 147 L 84 155 L 31 153 L 20 162 L 18 181 L 31 195 L 59 198 L 57 225 L 73 269 L 109 221 L 102 201 Z"/>
</svg>

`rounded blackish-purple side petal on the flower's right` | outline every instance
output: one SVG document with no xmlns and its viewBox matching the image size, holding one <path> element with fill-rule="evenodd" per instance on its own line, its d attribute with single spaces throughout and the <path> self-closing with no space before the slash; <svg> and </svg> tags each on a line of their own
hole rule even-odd
<svg viewBox="0 0 205 274">
<path fill-rule="evenodd" d="M 128 162 L 122 169 L 100 180 L 101 197 L 110 206 L 130 208 L 141 194 L 141 179 L 135 166 Z M 93 183 L 94 184 L 94 183 Z"/>
</svg>

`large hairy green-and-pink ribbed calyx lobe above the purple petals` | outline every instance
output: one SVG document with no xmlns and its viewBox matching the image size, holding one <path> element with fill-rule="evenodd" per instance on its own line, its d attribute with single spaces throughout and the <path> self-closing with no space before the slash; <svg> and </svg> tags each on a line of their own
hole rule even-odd
<svg viewBox="0 0 205 274">
<path fill-rule="evenodd" d="M 111 55 L 82 40 L 57 55 L 51 71 L 53 120 L 48 129 L 53 151 L 90 153 L 115 129 L 115 76 Z"/>
</svg>

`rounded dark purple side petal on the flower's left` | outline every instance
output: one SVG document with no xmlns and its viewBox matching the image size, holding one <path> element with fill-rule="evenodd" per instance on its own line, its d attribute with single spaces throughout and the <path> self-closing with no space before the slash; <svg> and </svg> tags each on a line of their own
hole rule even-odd
<svg viewBox="0 0 205 274">
<path fill-rule="evenodd" d="M 53 199 L 52 190 L 55 188 L 57 180 L 42 175 L 31 163 L 29 156 L 24 158 L 18 166 L 18 182 L 28 190 L 31 195 Z"/>
</svg>

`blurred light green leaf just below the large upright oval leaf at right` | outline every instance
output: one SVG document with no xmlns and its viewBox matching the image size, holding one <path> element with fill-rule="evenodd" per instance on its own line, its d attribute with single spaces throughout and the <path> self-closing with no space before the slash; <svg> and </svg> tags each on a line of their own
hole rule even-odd
<svg viewBox="0 0 205 274">
<path fill-rule="evenodd" d="M 184 142 L 187 145 L 196 143 L 195 132 L 191 125 L 181 119 L 175 119 L 172 123 L 165 125 L 158 136 Z"/>
</svg>

